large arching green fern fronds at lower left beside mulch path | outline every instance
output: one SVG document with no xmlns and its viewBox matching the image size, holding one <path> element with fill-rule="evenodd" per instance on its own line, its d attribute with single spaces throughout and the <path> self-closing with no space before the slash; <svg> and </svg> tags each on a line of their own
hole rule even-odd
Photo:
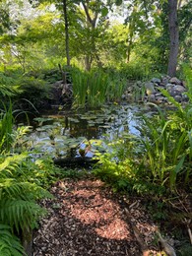
<svg viewBox="0 0 192 256">
<path fill-rule="evenodd" d="M 25 181 L 22 162 L 26 159 L 26 154 L 0 159 L 0 222 L 18 232 L 36 225 L 38 217 L 44 213 L 36 200 L 50 197 L 40 186 Z"/>
</svg>

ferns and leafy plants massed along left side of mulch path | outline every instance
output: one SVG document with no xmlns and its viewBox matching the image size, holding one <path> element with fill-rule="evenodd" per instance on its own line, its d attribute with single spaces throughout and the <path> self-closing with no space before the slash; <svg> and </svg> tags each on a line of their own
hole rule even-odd
<svg viewBox="0 0 192 256">
<path fill-rule="evenodd" d="M 52 198 L 42 186 L 48 188 L 60 172 L 50 160 L 33 161 L 25 152 L 11 154 L 12 147 L 17 145 L 14 140 L 28 131 L 14 132 L 11 103 L 1 113 L 0 125 L 0 254 L 23 255 L 23 247 L 15 235 L 21 237 L 37 226 L 45 210 L 36 202 Z"/>
</svg>

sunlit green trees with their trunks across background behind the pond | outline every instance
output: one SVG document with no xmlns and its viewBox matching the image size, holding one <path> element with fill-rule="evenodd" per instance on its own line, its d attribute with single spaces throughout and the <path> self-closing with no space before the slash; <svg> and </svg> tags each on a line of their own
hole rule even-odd
<svg viewBox="0 0 192 256">
<path fill-rule="evenodd" d="M 191 1 L 3 0 L 0 14 L 1 59 L 24 71 L 139 62 L 174 76 L 191 60 Z"/>
</svg>

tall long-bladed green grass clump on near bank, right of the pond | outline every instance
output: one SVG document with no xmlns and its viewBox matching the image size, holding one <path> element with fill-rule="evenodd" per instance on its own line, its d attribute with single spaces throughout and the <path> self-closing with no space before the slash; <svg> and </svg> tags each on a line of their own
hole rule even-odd
<svg viewBox="0 0 192 256">
<path fill-rule="evenodd" d="M 182 105 L 165 90 L 163 96 L 174 106 L 173 111 L 162 111 L 159 106 L 156 117 L 144 119 L 142 126 L 146 162 L 154 182 L 167 184 L 174 190 L 180 184 L 190 187 L 192 170 L 192 70 L 184 68 L 188 102 Z"/>
</svg>

